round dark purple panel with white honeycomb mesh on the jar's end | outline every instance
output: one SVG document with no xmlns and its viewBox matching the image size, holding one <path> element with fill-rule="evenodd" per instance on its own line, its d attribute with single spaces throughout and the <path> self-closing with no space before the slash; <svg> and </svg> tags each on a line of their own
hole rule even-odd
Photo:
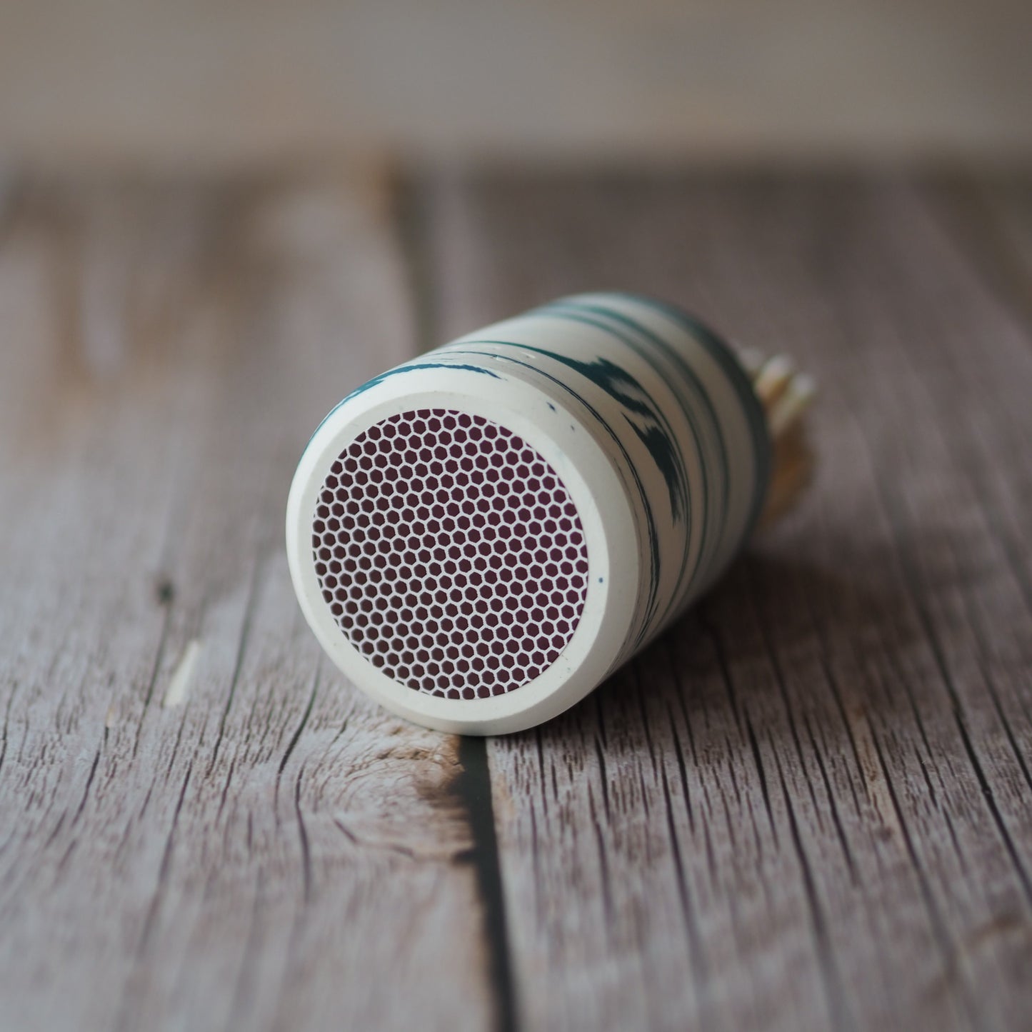
<svg viewBox="0 0 1032 1032">
<path fill-rule="evenodd" d="M 341 631 L 388 677 L 449 699 L 550 667 L 587 593 L 587 545 L 555 471 L 511 430 L 446 409 L 370 426 L 333 462 L 313 557 Z"/>
</svg>

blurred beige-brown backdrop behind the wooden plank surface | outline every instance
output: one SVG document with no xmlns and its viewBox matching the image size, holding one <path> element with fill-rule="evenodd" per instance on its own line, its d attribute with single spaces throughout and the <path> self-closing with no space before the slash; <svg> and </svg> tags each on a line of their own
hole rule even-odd
<svg viewBox="0 0 1032 1032">
<path fill-rule="evenodd" d="M 1032 154 L 1024 0 L 5 0 L 0 157 Z"/>
</svg>

